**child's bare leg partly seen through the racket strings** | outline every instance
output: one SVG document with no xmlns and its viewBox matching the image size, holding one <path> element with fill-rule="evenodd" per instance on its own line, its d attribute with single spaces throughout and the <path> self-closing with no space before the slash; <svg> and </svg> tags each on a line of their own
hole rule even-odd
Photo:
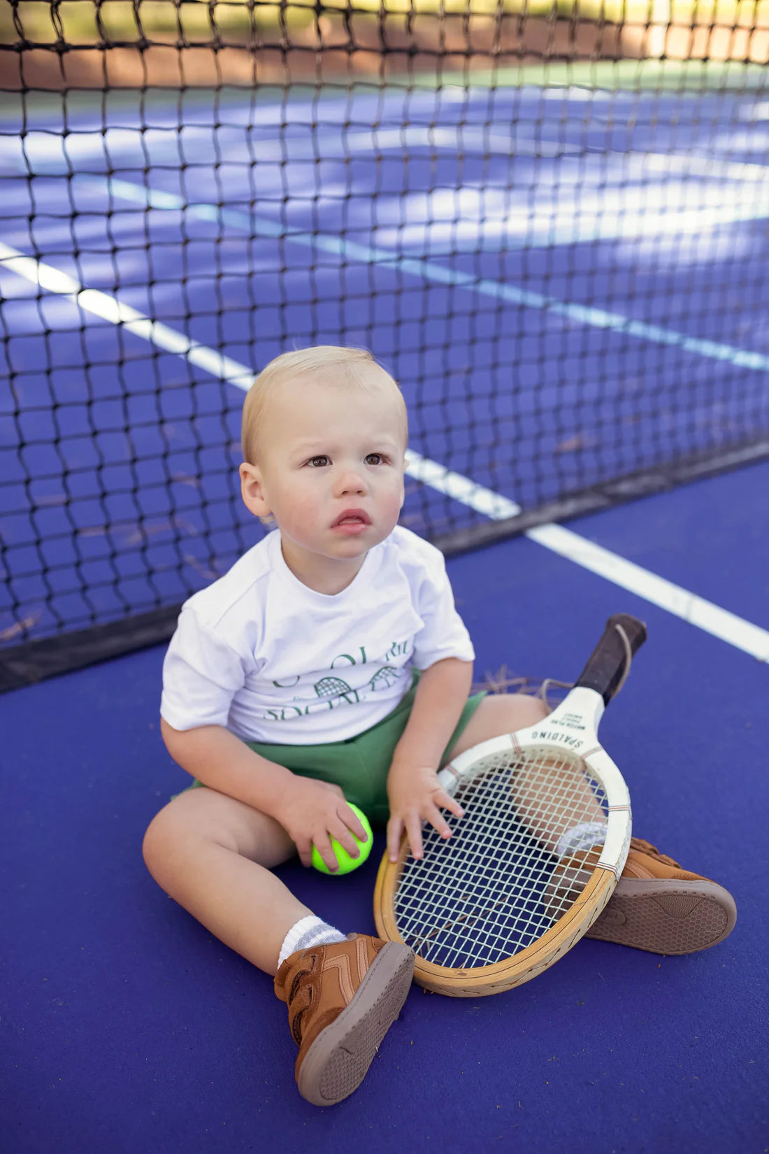
<svg viewBox="0 0 769 1154">
<path fill-rule="evenodd" d="M 542 721 L 546 715 L 548 709 L 538 697 L 527 697 L 523 694 L 489 695 L 483 698 L 452 748 L 448 760 L 481 741 L 523 729 Z M 552 804 L 546 810 L 543 809 L 540 801 L 545 784 L 551 781 L 553 770 L 558 773 L 564 792 L 568 792 L 571 797 L 568 809 L 563 814 L 555 814 Z M 596 802 L 585 773 L 566 760 L 553 760 L 543 767 L 517 774 L 513 802 L 521 820 L 551 853 L 563 834 L 574 826 L 586 822 L 605 822 L 605 815 Z"/>
</svg>

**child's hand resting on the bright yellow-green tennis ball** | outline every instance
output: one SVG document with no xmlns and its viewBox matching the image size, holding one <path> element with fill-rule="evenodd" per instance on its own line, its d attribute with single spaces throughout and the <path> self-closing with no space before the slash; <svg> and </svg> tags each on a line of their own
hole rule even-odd
<svg viewBox="0 0 769 1154">
<path fill-rule="evenodd" d="M 365 841 L 365 830 L 345 801 L 340 786 L 294 774 L 273 816 L 296 846 L 302 865 L 312 864 L 312 846 L 333 872 L 339 868 L 331 839 L 344 846 L 350 857 L 360 849 L 355 839 Z M 352 833 L 350 833 L 352 830 Z"/>
</svg>

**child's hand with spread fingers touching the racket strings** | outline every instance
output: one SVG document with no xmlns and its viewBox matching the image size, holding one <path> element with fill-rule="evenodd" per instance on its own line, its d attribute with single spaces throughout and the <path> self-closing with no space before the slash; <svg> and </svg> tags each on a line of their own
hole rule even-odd
<svg viewBox="0 0 769 1154">
<path fill-rule="evenodd" d="M 450 838 L 451 830 L 440 809 L 454 817 L 465 817 L 459 802 L 446 793 L 438 781 L 436 770 L 427 765 L 393 762 L 387 777 L 390 820 L 387 822 L 387 854 L 398 861 L 398 848 L 404 830 L 414 857 L 422 857 L 422 822 L 430 822 L 442 838 Z"/>
</svg>

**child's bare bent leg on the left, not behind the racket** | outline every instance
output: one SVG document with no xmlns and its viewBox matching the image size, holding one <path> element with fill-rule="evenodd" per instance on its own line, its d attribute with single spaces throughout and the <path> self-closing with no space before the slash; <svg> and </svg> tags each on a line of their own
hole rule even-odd
<svg viewBox="0 0 769 1154">
<path fill-rule="evenodd" d="M 213 789 L 180 794 L 144 837 L 150 874 L 232 950 L 274 974 L 288 930 L 312 911 L 271 870 L 295 853 L 282 826 Z"/>
</svg>

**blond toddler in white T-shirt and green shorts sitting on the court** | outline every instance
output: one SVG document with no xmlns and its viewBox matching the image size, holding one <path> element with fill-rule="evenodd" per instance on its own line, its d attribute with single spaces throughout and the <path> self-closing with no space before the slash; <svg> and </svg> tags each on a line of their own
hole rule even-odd
<svg viewBox="0 0 769 1154">
<path fill-rule="evenodd" d="M 277 529 L 184 604 L 164 665 L 163 739 L 195 780 L 152 820 L 145 862 L 211 932 L 274 975 L 299 1089 L 316 1104 L 360 1085 L 414 958 L 345 936 L 272 870 L 296 853 L 309 865 L 314 845 L 333 869 L 332 838 L 355 856 L 353 834 L 364 834 L 348 801 L 386 822 L 393 856 L 404 832 L 421 856 L 422 822 L 448 837 L 442 810 L 461 817 L 438 770 L 546 712 L 531 697 L 468 696 L 474 651 L 443 556 L 398 525 L 406 443 L 400 390 L 368 352 L 321 346 L 273 360 L 243 406 L 240 479 L 246 507 Z M 633 853 L 639 884 L 591 936 L 624 941 L 625 927 L 631 944 L 665 944 L 657 931 L 644 945 L 646 921 L 633 915 L 662 886 L 715 912 L 717 932 L 711 924 L 710 939 L 687 949 L 725 937 L 725 891 L 648 844 Z"/>
</svg>

